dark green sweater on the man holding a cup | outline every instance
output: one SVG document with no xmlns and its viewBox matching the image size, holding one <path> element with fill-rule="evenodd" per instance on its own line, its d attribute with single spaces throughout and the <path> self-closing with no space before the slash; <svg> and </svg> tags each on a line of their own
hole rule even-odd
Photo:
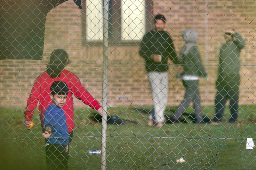
<svg viewBox="0 0 256 170">
<path fill-rule="evenodd" d="M 140 56 L 146 60 L 146 70 L 164 72 L 168 70 L 168 58 L 174 64 L 179 63 L 179 59 L 174 50 L 173 40 L 166 31 L 151 30 L 147 32 L 141 42 Z M 153 54 L 162 55 L 161 63 L 156 63 L 150 59 Z"/>
</svg>

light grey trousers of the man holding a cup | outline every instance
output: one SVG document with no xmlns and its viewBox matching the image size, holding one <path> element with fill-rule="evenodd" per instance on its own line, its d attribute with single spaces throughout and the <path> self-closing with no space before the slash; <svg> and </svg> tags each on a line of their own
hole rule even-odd
<svg viewBox="0 0 256 170">
<path fill-rule="evenodd" d="M 149 118 L 155 122 L 164 121 L 164 110 L 168 102 L 168 72 L 148 72 L 150 87 L 153 96 L 153 111 Z"/>
</svg>

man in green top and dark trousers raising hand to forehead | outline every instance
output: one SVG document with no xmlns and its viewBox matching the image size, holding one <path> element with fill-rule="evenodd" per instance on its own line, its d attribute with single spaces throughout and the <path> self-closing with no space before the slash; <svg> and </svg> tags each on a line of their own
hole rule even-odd
<svg viewBox="0 0 256 170">
<path fill-rule="evenodd" d="M 225 43 L 220 48 L 220 65 L 216 81 L 217 94 L 215 96 L 216 115 L 213 118 L 215 124 L 220 124 L 225 105 L 229 99 L 231 117 L 230 123 L 236 122 L 238 117 L 238 100 L 240 85 L 240 53 L 244 48 L 243 37 L 230 29 L 225 32 Z"/>
</svg>

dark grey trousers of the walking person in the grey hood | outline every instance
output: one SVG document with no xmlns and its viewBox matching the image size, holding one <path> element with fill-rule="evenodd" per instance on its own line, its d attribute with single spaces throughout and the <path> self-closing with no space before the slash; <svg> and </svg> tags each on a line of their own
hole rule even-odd
<svg viewBox="0 0 256 170">
<path fill-rule="evenodd" d="M 174 119 L 178 119 L 181 114 L 188 108 L 191 102 L 194 105 L 194 111 L 196 112 L 196 122 L 202 121 L 202 109 L 201 109 L 201 99 L 198 89 L 198 80 L 188 80 L 183 81 L 186 88 L 185 96 L 181 102 L 178 110 L 174 113 Z"/>
</svg>

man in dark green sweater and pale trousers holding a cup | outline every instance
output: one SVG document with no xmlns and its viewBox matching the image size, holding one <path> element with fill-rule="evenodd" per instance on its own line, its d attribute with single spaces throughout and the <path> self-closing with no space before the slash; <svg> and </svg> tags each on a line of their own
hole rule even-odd
<svg viewBox="0 0 256 170">
<path fill-rule="evenodd" d="M 139 53 L 146 61 L 146 70 L 153 93 L 154 107 L 148 124 L 161 127 L 168 102 L 168 58 L 175 65 L 178 65 L 179 60 L 174 50 L 173 40 L 164 30 L 165 17 L 157 14 L 154 17 L 154 24 L 155 28 L 144 35 Z"/>
</svg>

